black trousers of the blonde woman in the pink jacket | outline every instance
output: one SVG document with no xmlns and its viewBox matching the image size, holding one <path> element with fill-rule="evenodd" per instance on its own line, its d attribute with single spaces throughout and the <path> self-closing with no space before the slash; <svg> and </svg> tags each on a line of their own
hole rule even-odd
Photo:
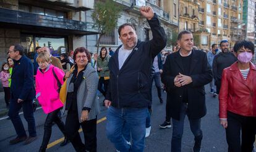
<svg viewBox="0 0 256 152">
<path fill-rule="evenodd" d="M 56 109 L 53 112 L 50 112 L 45 120 L 45 132 L 43 134 L 43 141 L 41 144 L 41 147 L 46 149 L 47 145 L 49 143 L 49 139 L 51 138 L 51 127 L 53 126 L 53 122 L 55 122 L 59 129 L 61 130 L 61 132 L 66 135 L 65 132 L 65 125 L 64 122 L 62 122 L 61 118 L 59 117 L 59 111 L 60 109 Z"/>
</svg>

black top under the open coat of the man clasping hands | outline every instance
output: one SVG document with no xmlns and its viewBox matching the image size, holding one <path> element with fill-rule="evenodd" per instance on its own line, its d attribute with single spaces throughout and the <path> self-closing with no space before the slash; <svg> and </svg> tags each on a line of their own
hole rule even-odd
<svg viewBox="0 0 256 152">
<path fill-rule="evenodd" d="M 179 54 L 179 56 L 181 56 L 181 54 Z M 191 59 L 192 59 L 192 53 L 189 56 L 181 56 L 181 61 L 182 61 L 183 69 L 184 69 L 183 75 L 189 76 Z M 183 88 L 183 100 L 182 101 L 184 103 L 187 103 L 187 101 L 189 99 L 188 91 L 187 91 L 188 85 L 185 85 L 182 88 Z"/>
</svg>

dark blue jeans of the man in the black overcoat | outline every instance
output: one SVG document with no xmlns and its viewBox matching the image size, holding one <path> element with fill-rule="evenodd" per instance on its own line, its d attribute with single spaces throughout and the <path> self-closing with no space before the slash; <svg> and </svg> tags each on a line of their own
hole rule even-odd
<svg viewBox="0 0 256 152">
<path fill-rule="evenodd" d="M 187 104 L 182 103 L 181 106 L 181 113 L 180 113 L 180 120 L 173 119 L 173 137 L 171 139 L 171 151 L 172 152 L 179 152 L 181 151 L 181 140 L 183 135 L 183 128 L 184 128 L 184 119 L 187 114 Z M 190 130 L 194 134 L 195 143 L 200 143 L 203 138 L 202 130 L 200 129 L 201 126 L 201 119 L 189 119 Z"/>
</svg>

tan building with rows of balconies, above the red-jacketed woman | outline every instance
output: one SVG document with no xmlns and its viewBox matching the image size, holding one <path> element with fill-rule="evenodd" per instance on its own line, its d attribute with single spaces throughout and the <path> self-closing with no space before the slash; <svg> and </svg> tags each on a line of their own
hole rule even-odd
<svg viewBox="0 0 256 152">
<path fill-rule="evenodd" d="M 209 32 L 208 48 L 221 40 L 234 46 L 242 39 L 242 4 L 241 0 L 198 1 L 199 26 Z"/>
</svg>

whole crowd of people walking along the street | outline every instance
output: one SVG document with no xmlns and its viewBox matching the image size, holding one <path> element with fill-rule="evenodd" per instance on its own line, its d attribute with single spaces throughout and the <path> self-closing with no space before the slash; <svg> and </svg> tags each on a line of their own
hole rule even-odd
<svg viewBox="0 0 256 152">
<path fill-rule="evenodd" d="M 194 46 L 192 33 L 184 30 L 172 52 L 166 53 L 162 50 L 167 38 L 157 15 L 149 6 L 140 7 L 140 13 L 147 19 L 152 40 L 139 41 L 134 26 L 124 23 L 118 28 L 122 44 L 116 51 L 103 47 L 100 54 L 92 55 L 80 47 L 58 59 L 49 48 L 38 46 L 32 63 L 22 45 L 10 46 L 0 73 L 8 115 L 17 133 L 9 143 L 29 144 L 36 140 L 32 104 L 36 98 L 47 114 L 39 151 L 46 151 L 53 123 L 65 137 L 61 146 L 70 141 L 75 151 L 96 151 L 100 91 L 108 108 L 106 136 L 116 151 L 144 151 L 151 129 L 151 90 L 155 81 L 160 104 L 164 102 L 162 86 L 167 92 L 166 118 L 160 128 L 173 127 L 171 151 L 181 151 L 187 116 L 194 135 L 193 151 L 199 152 L 203 139 L 201 119 L 207 114 L 205 85 L 210 83 L 210 93 L 213 97 L 219 95 L 220 124 L 226 130 L 228 151 L 252 152 L 256 67 L 250 61 L 254 44 L 238 41 L 231 53 L 228 41 L 223 40 L 220 49 L 212 44 L 211 51 L 205 53 Z M 21 108 L 28 123 L 28 137 L 19 116 Z M 65 123 L 61 120 L 64 113 Z"/>
</svg>

